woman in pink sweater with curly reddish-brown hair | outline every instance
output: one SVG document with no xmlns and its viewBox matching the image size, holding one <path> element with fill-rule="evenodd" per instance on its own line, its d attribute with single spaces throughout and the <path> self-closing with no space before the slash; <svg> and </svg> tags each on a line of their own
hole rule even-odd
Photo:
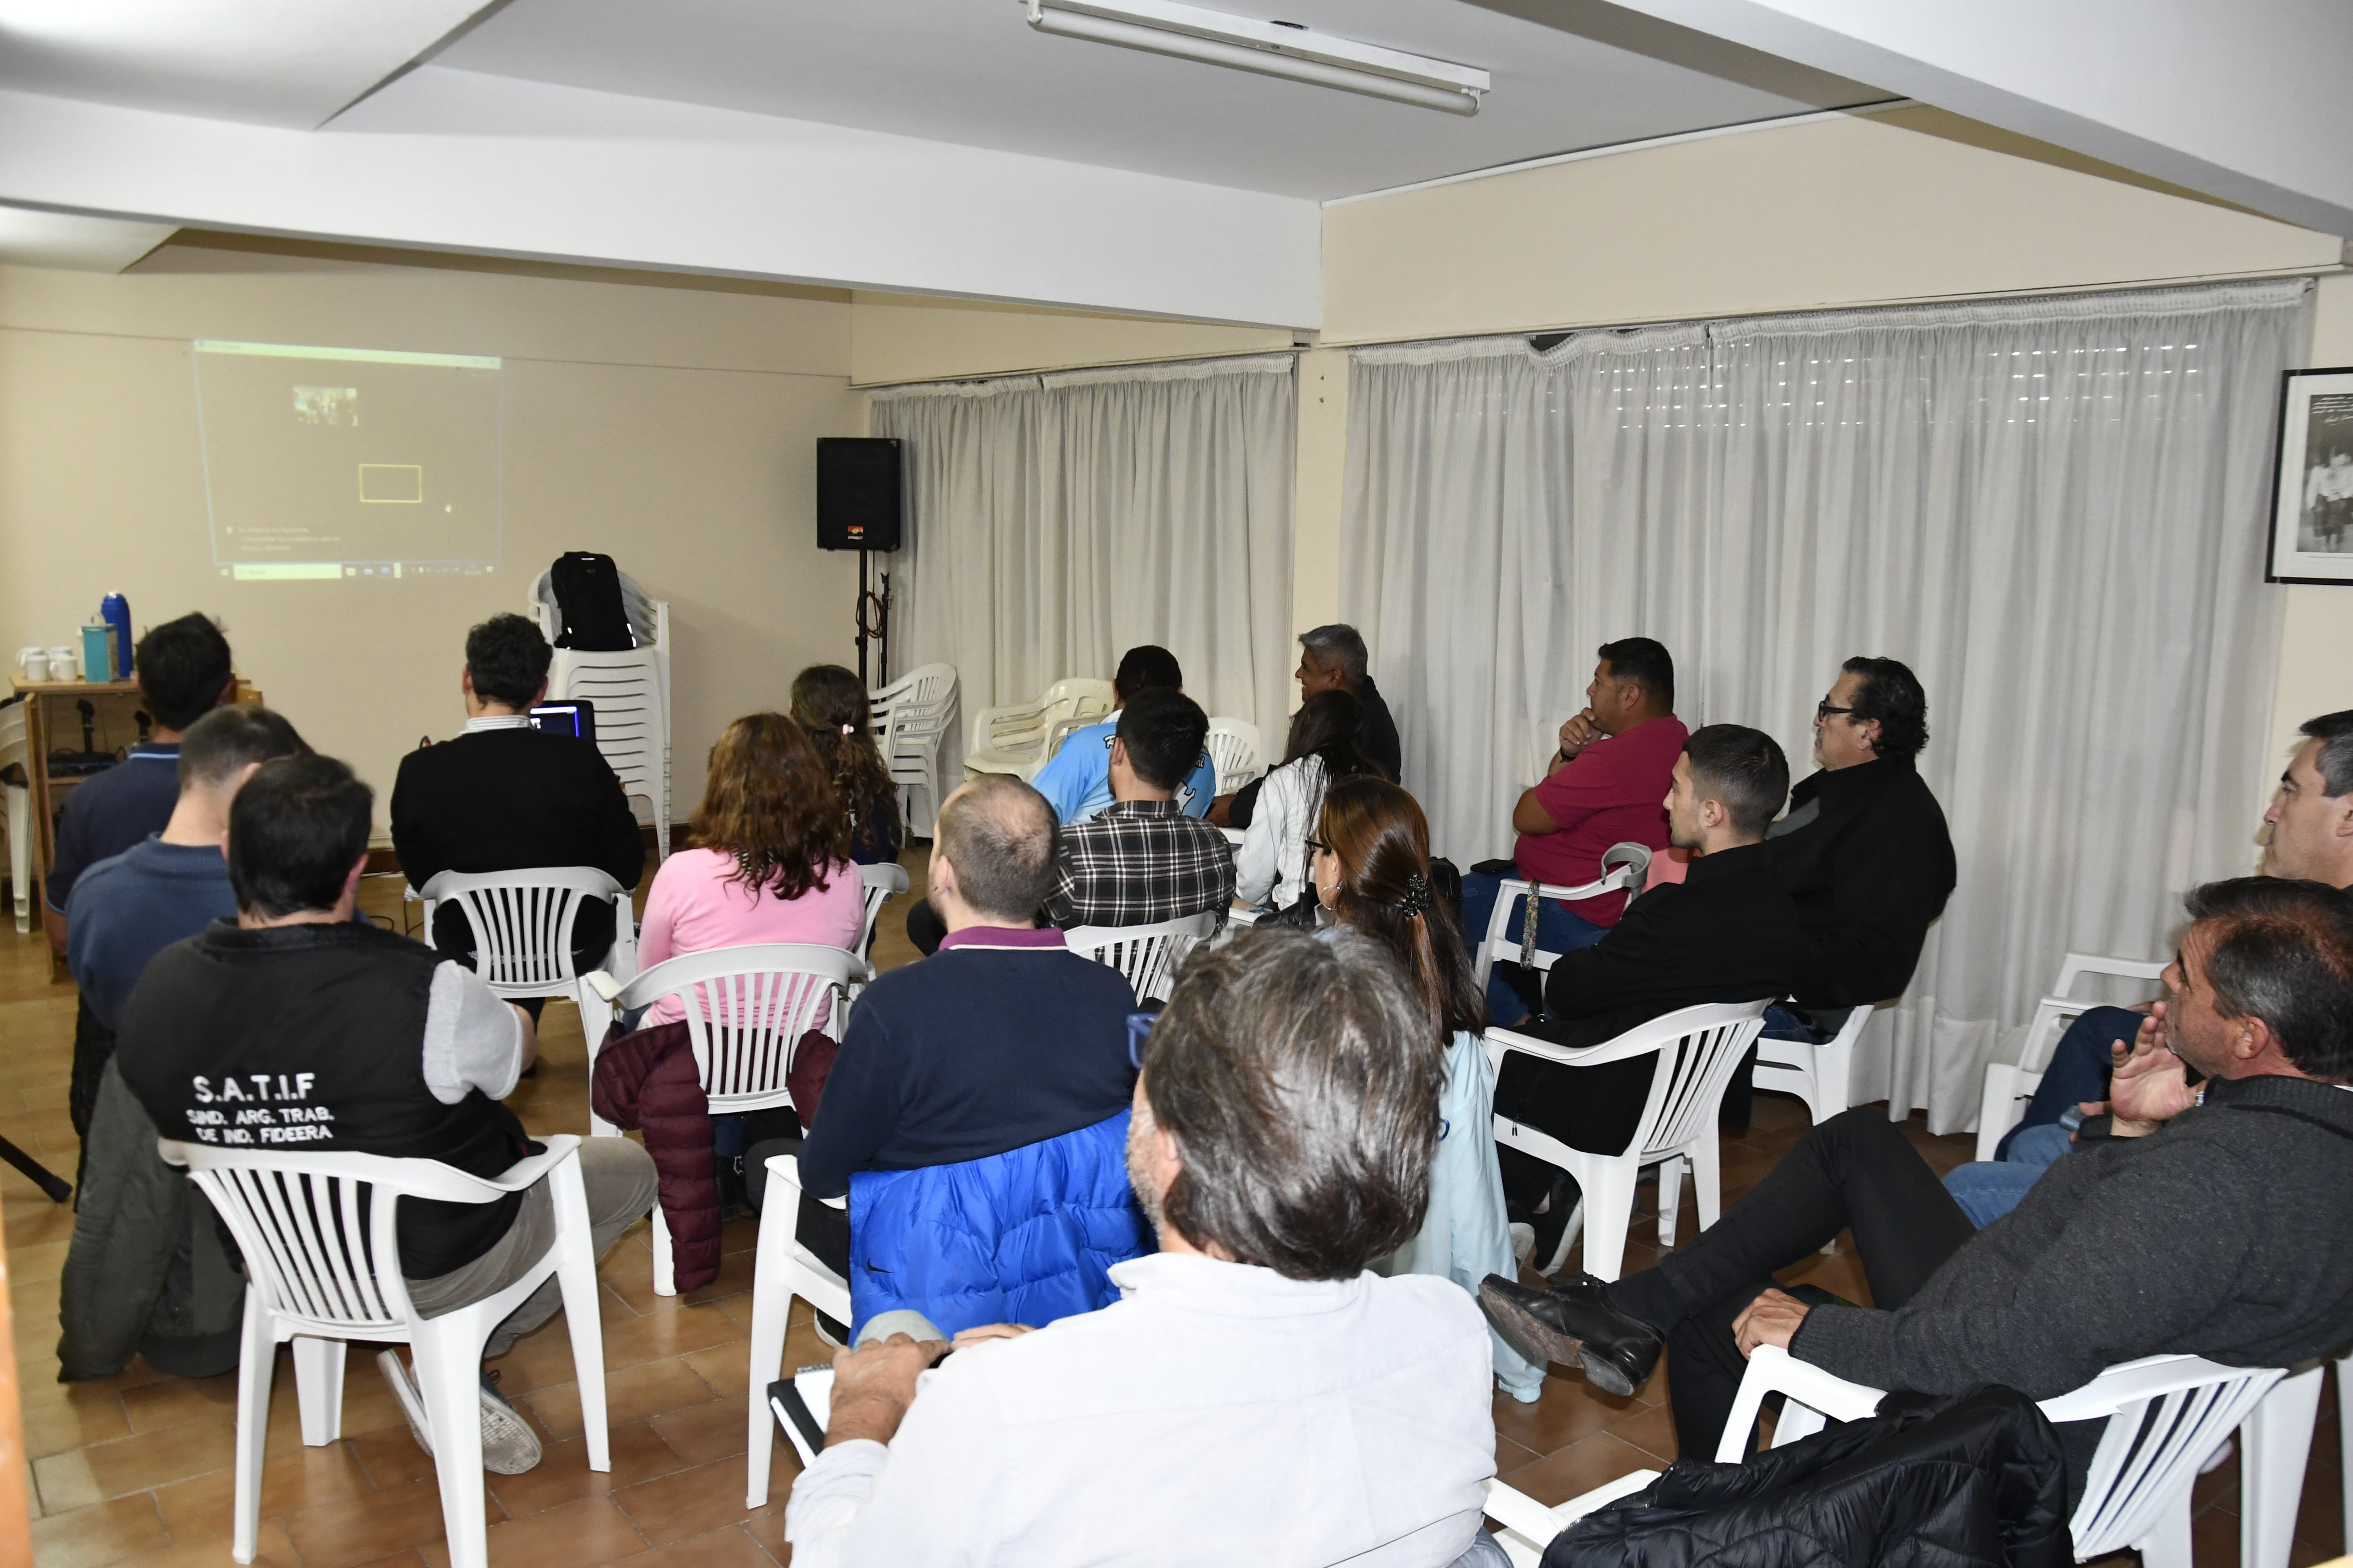
<svg viewBox="0 0 2353 1568">
<path fill-rule="evenodd" d="M 866 891 L 849 830 L 816 748 L 781 712 L 736 719 L 711 748 L 704 804 L 682 849 L 654 872 L 638 926 L 638 966 L 753 943 L 856 947 Z M 675 1023 L 678 997 L 642 1025 Z"/>
</svg>

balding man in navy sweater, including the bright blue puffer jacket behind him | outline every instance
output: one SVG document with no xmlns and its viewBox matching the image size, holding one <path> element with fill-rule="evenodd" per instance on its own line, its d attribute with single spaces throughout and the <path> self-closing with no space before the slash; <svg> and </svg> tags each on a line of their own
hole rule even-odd
<svg viewBox="0 0 2353 1568">
<path fill-rule="evenodd" d="M 887 1312 L 948 1335 L 1094 1312 L 1106 1269 L 1153 1251 L 1125 1166 L 1136 999 L 1035 929 L 1054 837 L 1019 778 L 951 795 L 929 867 L 948 936 L 849 1013 L 800 1180 L 849 1194 L 852 1335 Z"/>
</svg>

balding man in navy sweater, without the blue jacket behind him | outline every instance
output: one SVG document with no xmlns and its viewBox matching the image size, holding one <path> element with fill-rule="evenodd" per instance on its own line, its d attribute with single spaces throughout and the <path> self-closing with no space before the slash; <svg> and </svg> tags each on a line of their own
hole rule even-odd
<svg viewBox="0 0 2353 1568">
<path fill-rule="evenodd" d="M 1134 1095 L 1127 980 L 1031 924 L 1054 886 L 1054 809 L 1009 773 L 984 773 L 939 809 L 929 898 L 948 936 L 859 997 L 800 1145 L 800 1239 L 842 1274 L 847 1222 L 814 1199 L 849 1192 L 852 1171 L 1005 1154 L 1115 1117 Z"/>
</svg>

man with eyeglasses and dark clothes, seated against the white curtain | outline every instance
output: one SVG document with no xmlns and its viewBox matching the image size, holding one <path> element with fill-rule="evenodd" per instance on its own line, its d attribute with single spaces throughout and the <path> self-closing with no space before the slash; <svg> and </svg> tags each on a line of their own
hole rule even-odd
<svg viewBox="0 0 2353 1568">
<path fill-rule="evenodd" d="M 1894 658 L 1849 658 L 1814 705 L 1819 771 L 1765 830 L 1798 905 L 1805 959 L 1795 1001 L 1765 1018 L 1769 1039 L 1831 1039 L 1859 1006 L 1901 997 L 1929 924 L 1958 879 L 1953 835 L 1915 757 L 1927 693 Z M 1725 1093 L 1722 1124 L 1748 1126 L 1751 1063 Z"/>
</svg>

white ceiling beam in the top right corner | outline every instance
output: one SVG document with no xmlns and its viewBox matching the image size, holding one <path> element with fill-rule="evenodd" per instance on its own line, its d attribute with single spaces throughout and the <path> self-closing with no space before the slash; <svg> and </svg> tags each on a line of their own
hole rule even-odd
<svg viewBox="0 0 2353 1568">
<path fill-rule="evenodd" d="M 2344 0 L 1617 0 L 2327 235 L 2353 235 Z"/>
</svg>

